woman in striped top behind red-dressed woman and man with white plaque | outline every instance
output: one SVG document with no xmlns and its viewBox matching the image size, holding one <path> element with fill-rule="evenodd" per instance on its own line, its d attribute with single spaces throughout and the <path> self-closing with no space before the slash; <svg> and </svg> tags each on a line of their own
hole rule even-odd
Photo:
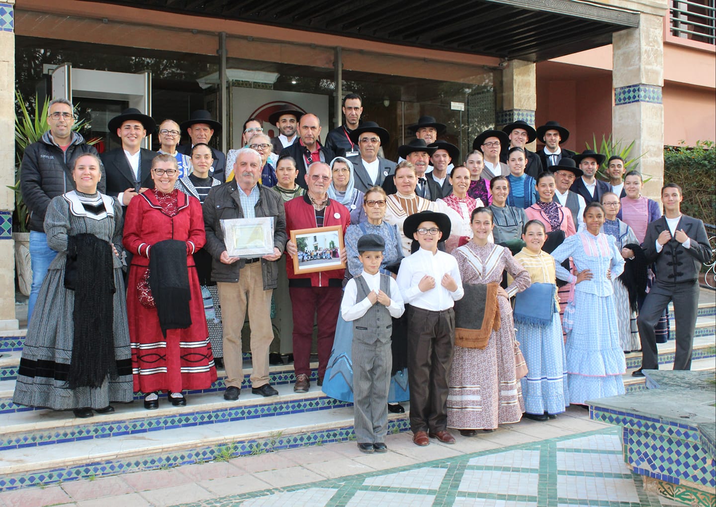
<svg viewBox="0 0 716 507">
<path fill-rule="evenodd" d="M 191 165 L 193 171 L 190 175 L 177 180 L 176 188 L 186 195 L 191 195 L 204 203 L 209 190 L 221 181 L 212 178 L 209 170 L 213 163 L 211 148 L 205 143 L 198 143 L 191 148 Z M 206 325 L 209 328 L 209 341 L 211 352 L 214 355 L 216 367 L 223 367 L 223 332 L 221 329 L 221 305 L 216 282 L 211 280 L 211 256 L 203 248 L 194 253 L 196 274 L 201 285 L 201 296 L 204 299 L 204 314 Z"/>
</svg>

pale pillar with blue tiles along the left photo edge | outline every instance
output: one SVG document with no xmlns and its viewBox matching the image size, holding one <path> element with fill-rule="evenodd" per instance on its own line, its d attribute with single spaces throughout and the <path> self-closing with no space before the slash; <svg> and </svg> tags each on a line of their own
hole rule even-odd
<svg viewBox="0 0 716 507">
<path fill-rule="evenodd" d="M 12 211 L 15 196 L 15 0 L 0 0 L 0 330 L 17 329 Z"/>
</svg>

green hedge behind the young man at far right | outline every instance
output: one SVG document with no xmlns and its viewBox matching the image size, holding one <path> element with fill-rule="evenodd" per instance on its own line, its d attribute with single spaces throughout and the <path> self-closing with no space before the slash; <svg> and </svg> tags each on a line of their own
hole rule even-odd
<svg viewBox="0 0 716 507">
<path fill-rule="evenodd" d="M 697 141 L 687 146 L 664 147 L 664 183 L 676 183 L 684 190 L 681 209 L 705 223 L 716 224 L 716 145 Z"/>
</svg>

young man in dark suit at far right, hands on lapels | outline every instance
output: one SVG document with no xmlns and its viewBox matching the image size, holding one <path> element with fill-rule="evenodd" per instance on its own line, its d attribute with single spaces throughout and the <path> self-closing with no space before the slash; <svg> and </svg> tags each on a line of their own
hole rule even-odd
<svg viewBox="0 0 716 507">
<path fill-rule="evenodd" d="M 682 190 L 675 183 L 662 187 L 664 216 L 649 223 L 644 236 L 647 262 L 656 264 L 657 279 L 644 300 L 637 317 L 642 339 L 642 367 L 632 373 L 643 377 L 642 370 L 658 370 L 659 356 L 654 327 L 669 301 L 674 303 L 676 356 L 674 370 L 691 370 L 691 352 L 699 308 L 699 271 L 711 259 L 711 247 L 704 223 L 681 213 Z"/>
</svg>

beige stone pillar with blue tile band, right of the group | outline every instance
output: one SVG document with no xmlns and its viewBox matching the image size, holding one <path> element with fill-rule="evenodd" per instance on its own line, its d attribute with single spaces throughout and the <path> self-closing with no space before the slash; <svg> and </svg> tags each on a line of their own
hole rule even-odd
<svg viewBox="0 0 716 507">
<path fill-rule="evenodd" d="M 665 11 L 664 11 L 665 12 Z M 631 155 L 639 159 L 644 195 L 658 200 L 664 182 L 664 19 L 642 12 L 639 26 L 616 32 L 614 44 L 614 114 L 612 138 L 623 145 L 634 141 Z"/>
</svg>

